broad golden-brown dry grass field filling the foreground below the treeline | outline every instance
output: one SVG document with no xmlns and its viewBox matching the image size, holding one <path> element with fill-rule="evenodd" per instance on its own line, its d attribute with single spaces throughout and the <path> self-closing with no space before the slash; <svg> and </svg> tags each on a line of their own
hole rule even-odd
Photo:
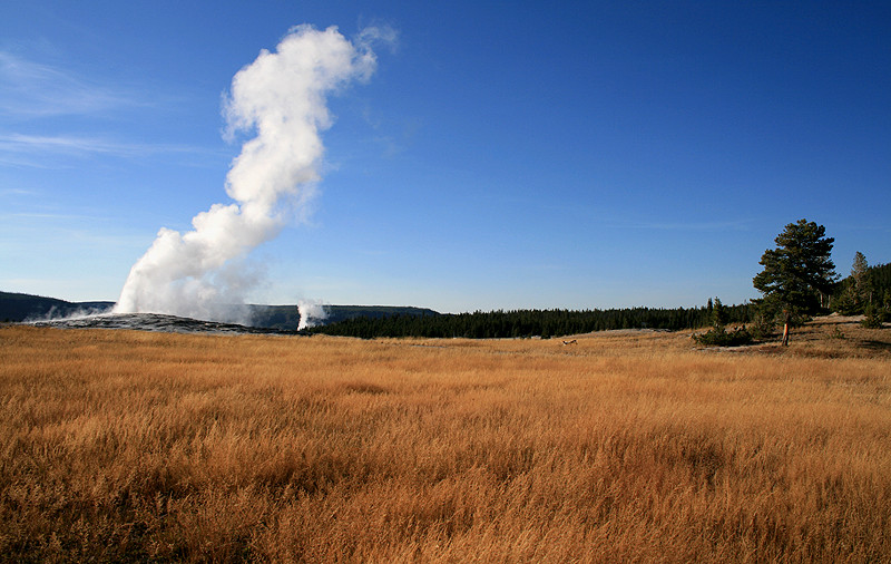
<svg viewBox="0 0 891 564">
<path fill-rule="evenodd" d="M 0 328 L 0 558 L 891 562 L 889 333 Z"/>
</svg>

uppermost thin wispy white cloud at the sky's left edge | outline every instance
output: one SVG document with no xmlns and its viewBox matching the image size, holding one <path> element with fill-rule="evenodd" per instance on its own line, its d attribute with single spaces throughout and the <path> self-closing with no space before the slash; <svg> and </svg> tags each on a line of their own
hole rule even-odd
<svg viewBox="0 0 891 564">
<path fill-rule="evenodd" d="M 95 82 L 74 72 L 0 51 L 0 115 L 23 118 L 86 115 L 148 106 L 135 89 Z"/>
</svg>

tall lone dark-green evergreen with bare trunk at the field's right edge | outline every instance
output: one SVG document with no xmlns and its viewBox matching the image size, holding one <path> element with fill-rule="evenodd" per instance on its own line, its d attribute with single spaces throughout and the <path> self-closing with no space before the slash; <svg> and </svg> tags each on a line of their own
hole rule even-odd
<svg viewBox="0 0 891 564">
<path fill-rule="evenodd" d="M 776 249 L 764 251 L 760 261 L 764 270 L 752 279 L 764 303 L 782 315 L 784 346 L 791 323 L 816 313 L 838 279 L 830 256 L 835 240 L 825 234 L 825 227 L 814 222 L 790 223 L 774 240 Z"/>
</svg>

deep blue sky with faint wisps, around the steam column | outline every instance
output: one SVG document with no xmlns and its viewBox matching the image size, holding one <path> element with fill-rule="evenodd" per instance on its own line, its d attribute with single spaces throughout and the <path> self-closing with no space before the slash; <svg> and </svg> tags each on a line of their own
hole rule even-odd
<svg viewBox="0 0 891 564">
<path fill-rule="evenodd" d="M 0 9 L 0 290 L 115 300 L 228 203 L 222 97 L 292 26 L 389 26 L 330 99 L 312 214 L 248 301 L 439 311 L 757 296 L 802 217 L 891 262 L 887 2 L 69 2 Z"/>
</svg>

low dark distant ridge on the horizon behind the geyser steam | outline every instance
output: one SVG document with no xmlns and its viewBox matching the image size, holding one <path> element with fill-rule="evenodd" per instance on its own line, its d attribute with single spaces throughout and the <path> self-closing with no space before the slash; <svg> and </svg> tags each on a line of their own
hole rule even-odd
<svg viewBox="0 0 891 564">
<path fill-rule="evenodd" d="M 68 302 L 42 295 L 0 292 L 0 322 L 38 321 L 49 318 L 66 318 L 76 314 L 96 314 L 107 312 L 115 302 Z M 248 327 L 292 331 L 300 323 L 297 305 L 262 305 L 247 307 L 251 313 Z M 320 324 L 335 323 L 356 318 L 382 319 L 390 315 L 439 315 L 430 309 L 399 305 L 324 305 L 327 318 Z"/>
</svg>

